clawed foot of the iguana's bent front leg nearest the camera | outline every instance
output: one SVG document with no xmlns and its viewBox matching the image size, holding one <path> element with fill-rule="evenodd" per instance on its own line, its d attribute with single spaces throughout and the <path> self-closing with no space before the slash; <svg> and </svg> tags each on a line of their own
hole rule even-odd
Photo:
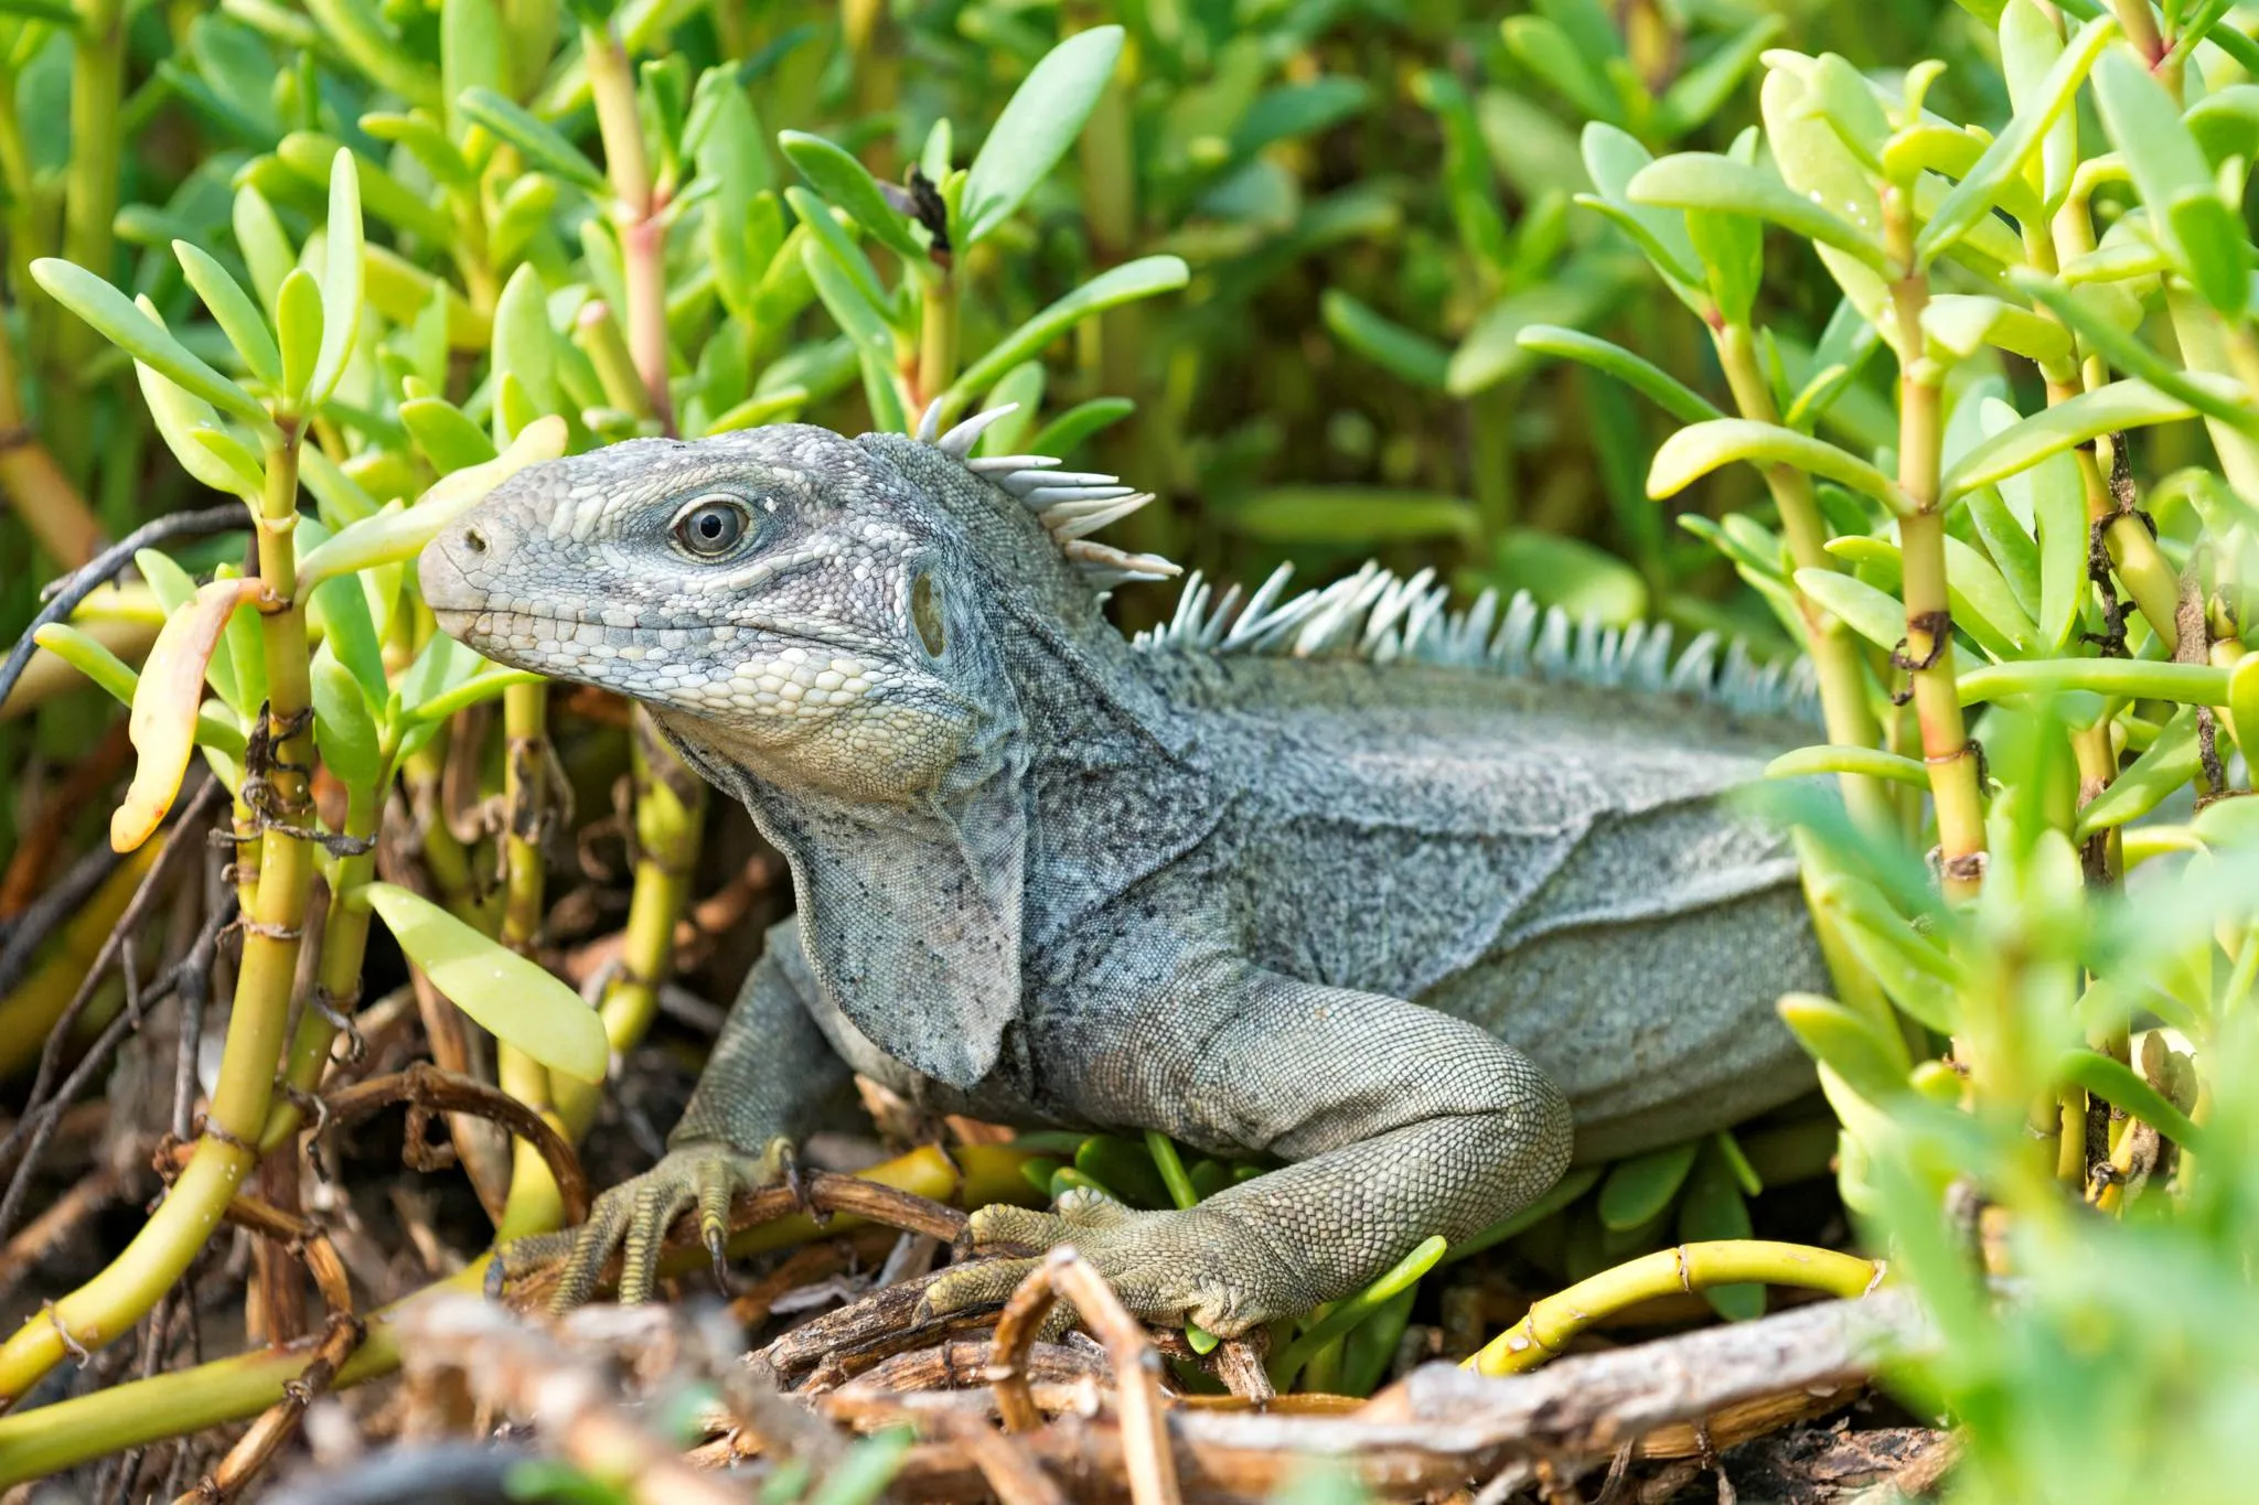
<svg viewBox="0 0 2259 1505">
<path fill-rule="evenodd" d="M 1233 1209 L 1202 1203 L 1181 1212 L 1136 1212 L 1089 1191 L 1059 1198 L 1057 1212 L 983 1207 L 967 1230 L 974 1248 L 1073 1246 L 1107 1277 L 1134 1315 L 1181 1324 L 1186 1318 L 1220 1338 L 1308 1311 L 1317 1295 L 1267 1239 Z M 1039 1259 L 980 1259 L 926 1288 L 935 1315 L 996 1306 Z"/>
</svg>

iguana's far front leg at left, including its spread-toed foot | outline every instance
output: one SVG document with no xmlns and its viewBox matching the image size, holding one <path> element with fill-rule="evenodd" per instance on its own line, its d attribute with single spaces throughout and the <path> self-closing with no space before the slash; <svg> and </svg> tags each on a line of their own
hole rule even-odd
<svg viewBox="0 0 2259 1505">
<path fill-rule="evenodd" d="M 594 1291 L 614 1248 L 626 1257 L 619 1300 L 651 1295 L 666 1230 L 689 1207 L 707 1246 L 727 1234 L 730 1198 L 782 1180 L 793 1144 L 818 1128 L 854 1121 L 854 1079 L 779 961 L 797 948 L 793 923 L 768 932 L 768 950 L 739 988 L 698 1090 L 666 1135 L 666 1158 L 596 1198 L 587 1223 L 520 1239 L 504 1268 L 565 1259 L 551 1304 L 578 1306 Z"/>
</svg>

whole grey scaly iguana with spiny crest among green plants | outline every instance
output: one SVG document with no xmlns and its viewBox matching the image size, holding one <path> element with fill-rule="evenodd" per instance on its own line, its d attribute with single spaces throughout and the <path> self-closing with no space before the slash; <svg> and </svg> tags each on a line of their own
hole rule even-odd
<svg viewBox="0 0 2259 1505">
<path fill-rule="evenodd" d="M 422 555 L 450 634 L 646 702 L 793 869 L 797 916 L 666 1160 L 522 1250 L 569 1250 L 560 1304 L 621 1243 L 623 1300 L 648 1295 L 684 1209 L 718 1243 L 739 1187 L 852 1112 L 849 1072 L 1283 1162 L 1186 1212 L 974 1218 L 1222 1336 L 1466 1239 L 1572 1151 L 1809 1085 L 1773 1018 L 1823 977 L 1796 869 L 1721 801 L 1800 738 L 1721 706 L 1708 648 L 1669 675 L 1663 641 L 1570 643 L 1527 602 L 1493 639 L 1493 602 L 1453 618 L 1376 571 L 1213 611 L 1195 587 L 1127 643 L 1105 591 L 1175 571 L 1082 535 L 1143 496 L 969 460 L 980 422 L 614 445 L 522 472 Z M 1026 1264 L 965 1266 L 931 1306 L 996 1302 Z"/>
</svg>

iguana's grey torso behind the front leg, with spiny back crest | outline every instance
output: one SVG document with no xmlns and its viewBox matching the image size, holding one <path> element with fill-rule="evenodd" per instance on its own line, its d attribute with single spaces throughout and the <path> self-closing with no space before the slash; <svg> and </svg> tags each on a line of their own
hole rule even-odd
<svg viewBox="0 0 2259 1505">
<path fill-rule="evenodd" d="M 1209 866 L 1245 896 L 1249 954 L 1511 1040 L 1568 1094 L 1581 1158 L 1807 1090 L 1773 1004 L 1825 975 L 1787 837 L 1735 801 L 1809 738 L 1800 681 L 1712 670 L 1710 643 L 1674 659 L 1660 632 L 1626 650 L 1527 598 L 1489 639 L 1480 605 L 1439 611 L 1376 661 L 1369 616 L 1306 657 L 1220 652 L 1215 625 L 1141 643 L 1231 787 Z"/>
</svg>

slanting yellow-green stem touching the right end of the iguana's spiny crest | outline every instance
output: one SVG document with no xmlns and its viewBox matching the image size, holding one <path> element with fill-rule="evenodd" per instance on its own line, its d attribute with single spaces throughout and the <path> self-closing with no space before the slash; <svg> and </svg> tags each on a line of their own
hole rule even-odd
<svg viewBox="0 0 2259 1505">
<path fill-rule="evenodd" d="M 1758 368 L 1758 350 L 1748 327 L 1724 325 L 1712 332 L 1712 341 L 1742 417 L 1764 424 L 1780 422 L 1773 388 L 1767 386 L 1764 372 Z M 1828 553 L 1828 521 L 1821 517 L 1818 496 L 1812 492 L 1812 476 L 1789 465 L 1767 465 L 1764 487 L 1773 494 L 1773 505 L 1780 510 L 1780 533 L 1789 544 L 1789 562 L 1796 569 L 1841 569 L 1841 562 Z M 1857 634 L 1841 618 L 1798 591 L 1794 578 L 1789 580 L 1789 589 L 1796 596 L 1796 609 L 1805 618 L 1805 648 L 1812 654 L 1812 668 L 1821 686 L 1821 718 L 1828 724 L 1828 740 L 1839 747 L 1877 747 L 1882 742 L 1882 727 L 1875 722 L 1875 709 L 1868 702 L 1866 657 Z M 1898 810 L 1891 790 L 1879 778 L 1843 774 L 1841 787 L 1843 803 L 1861 830 L 1875 835 L 1895 830 Z"/>
</svg>

